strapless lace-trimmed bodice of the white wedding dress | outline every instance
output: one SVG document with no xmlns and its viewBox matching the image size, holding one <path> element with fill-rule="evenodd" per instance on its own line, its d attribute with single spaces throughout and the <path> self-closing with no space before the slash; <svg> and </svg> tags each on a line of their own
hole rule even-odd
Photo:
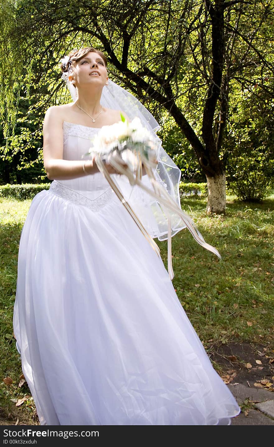
<svg viewBox="0 0 274 447">
<path fill-rule="evenodd" d="M 63 122 L 63 159 L 89 160 L 88 152 L 92 139 L 100 130 L 98 127 L 87 127 L 82 124 Z M 70 180 L 59 180 L 67 188 L 78 191 L 89 198 L 96 198 L 107 190 L 110 185 L 101 173 L 85 175 Z"/>
</svg>

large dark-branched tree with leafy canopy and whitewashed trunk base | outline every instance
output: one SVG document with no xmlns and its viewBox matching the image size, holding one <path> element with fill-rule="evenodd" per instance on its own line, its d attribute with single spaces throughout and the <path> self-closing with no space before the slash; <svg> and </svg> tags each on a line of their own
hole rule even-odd
<svg viewBox="0 0 274 447">
<path fill-rule="evenodd" d="M 29 89 L 35 79 L 56 94 L 58 56 L 72 46 L 100 47 L 116 80 L 152 111 L 164 108 L 174 118 L 207 177 L 207 211 L 225 212 L 223 135 L 230 88 L 251 79 L 251 70 L 260 85 L 273 74 L 268 42 L 273 0 L 3 3 L 2 114 L 4 104 L 14 110 L 18 71 Z"/>
</svg>

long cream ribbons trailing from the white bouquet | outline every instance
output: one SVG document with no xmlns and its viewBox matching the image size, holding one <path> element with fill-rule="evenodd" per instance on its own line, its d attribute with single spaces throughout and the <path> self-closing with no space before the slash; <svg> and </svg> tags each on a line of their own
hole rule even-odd
<svg viewBox="0 0 274 447">
<path fill-rule="evenodd" d="M 139 152 L 135 153 L 136 156 L 136 173 L 134 174 L 129 167 L 124 166 L 125 162 L 122 159 L 121 155 L 116 152 L 113 154 L 113 156 L 110 157 L 110 160 L 108 160 L 108 163 L 113 166 L 113 168 L 118 171 L 120 174 L 126 175 L 126 177 L 129 179 L 130 184 L 132 186 L 138 185 L 140 188 L 142 188 L 145 192 L 147 192 L 149 195 L 151 195 L 153 198 L 156 198 L 157 201 L 160 203 L 160 205 L 164 205 L 167 207 L 168 210 L 175 212 L 178 216 L 181 217 L 182 221 L 184 222 L 186 228 L 190 231 L 194 239 L 198 242 L 198 244 L 202 245 L 205 249 L 211 251 L 212 253 L 215 253 L 216 256 L 221 258 L 220 253 L 218 252 L 215 247 L 212 245 L 207 244 L 205 240 L 203 239 L 202 235 L 198 232 L 198 230 L 195 229 L 194 223 L 191 219 L 191 217 L 184 213 L 181 208 L 177 205 L 177 203 L 173 200 L 173 198 L 170 197 L 169 193 L 164 189 L 162 185 L 160 185 L 152 171 L 152 166 L 155 166 L 152 162 L 146 160 L 145 158 L 142 159 Z M 95 156 L 95 162 L 97 164 L 97 167 L 99 171 L 104 175 L 106 180 L 109 182 L 110 186 L 114 190 L 115 194 L 118 196 L 119 200 L 122 202 L 126 210 L 130 213 L 131 217 L 135 220 L 136 224 L 142 231 L 143 235 L 146 237 L 152 248 L 156 251 L 158 256 L 160 257 L 160 249 L 156 242 L 152 239 L 152 237 L 149 235 L 147 230 L 143 227 L 143 224 L 138 219 L 135 212 L 132 210 L 131 206 L 128 202 L 126 202 L 122 192 L 119 190 L 119 187 L 117 183 L 114 181 L 113 178 L 110 177 L 110 174 L 108 170 L 105 167 L 105 164 L 101 160 L 101 156 L 96 154 Z M 146 173 L 150 179 L 150 182 L 153 186 L 153 191 L 150 190 L 147 186 L 143 185 L 142 182 L 142 164 L 144 168 L 146 169 Z M 172 280 L 174 278 L 174 272 L 172 267 L 172 253 L 171 253 L 171 218 L 168 211 L 166 211 L 166 214 L 168 215 L 168 272 L 169 272 L 169 278 Z"/>
</svg>

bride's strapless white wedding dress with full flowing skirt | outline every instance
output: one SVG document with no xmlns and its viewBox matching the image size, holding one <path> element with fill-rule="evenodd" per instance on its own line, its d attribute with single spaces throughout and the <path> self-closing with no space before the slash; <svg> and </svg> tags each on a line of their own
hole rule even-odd
<svg viewBox="0 0 274 447">
<path fill-rule="evenodd" d="M 96 131 L 64 122 L 63 158 L 80 160 Z M 229 425 L 240 412 L 101 173 L 31 202 L 13 328 L 41 425 Z"/>
</svg>

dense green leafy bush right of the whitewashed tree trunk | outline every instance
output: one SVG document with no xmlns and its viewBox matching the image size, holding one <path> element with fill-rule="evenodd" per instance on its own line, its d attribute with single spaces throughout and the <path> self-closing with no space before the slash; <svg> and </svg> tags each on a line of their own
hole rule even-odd
<svg viewBox="0 0 274 447">
<path fill-rule="evenodd" d="M 274 99 L 257 85 L 235 97 L 225 141 L 228 186 L 241 200 L 256 202 L 274 188 Z"/>
</svg>

